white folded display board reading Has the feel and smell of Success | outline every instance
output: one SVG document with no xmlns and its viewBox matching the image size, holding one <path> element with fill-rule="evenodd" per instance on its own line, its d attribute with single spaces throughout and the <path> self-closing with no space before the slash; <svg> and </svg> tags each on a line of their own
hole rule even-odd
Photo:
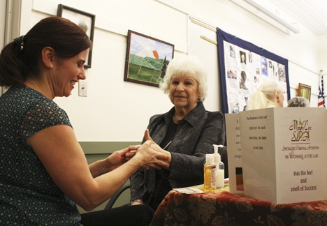
<svg viewBox="0 0 327 226">
<path fill-rule="evenodd" d="M 275 204 L 327 199 L 326 108 L 272 107 L 239 116 L 245 195 Z"/>
</svg>

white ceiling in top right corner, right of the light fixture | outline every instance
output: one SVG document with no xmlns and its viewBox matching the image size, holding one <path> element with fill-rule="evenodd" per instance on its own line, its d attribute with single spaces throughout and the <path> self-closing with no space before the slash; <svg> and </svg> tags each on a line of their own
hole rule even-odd
<svg viewBox="0 0 327 226">
<path fill-rule="evenodd" d="M 270 2 L 317 36 L 327 35 L 327 0 L 270 0 Z"/>
</svg>

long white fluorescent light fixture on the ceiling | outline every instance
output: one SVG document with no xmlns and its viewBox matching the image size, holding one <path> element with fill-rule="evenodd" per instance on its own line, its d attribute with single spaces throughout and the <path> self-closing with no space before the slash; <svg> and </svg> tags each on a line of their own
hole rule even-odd
<svg viewBox="0 0 327 226">
<path fill-rule="evenodd" d="M 298 22 L 289 17 L 282 10 L 277 8 L 268 0 L 231 0 L 237 3 L 242 8 L 245 8 L 250 13 L 272 24 L 277 29 L 289 34 L 289 30 L 294 33 L 299 33 Z"/>
</svg>

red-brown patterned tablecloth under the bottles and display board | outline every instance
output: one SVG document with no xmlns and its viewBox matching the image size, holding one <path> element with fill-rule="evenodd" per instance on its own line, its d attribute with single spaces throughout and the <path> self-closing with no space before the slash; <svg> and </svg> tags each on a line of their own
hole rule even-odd
<svg viewBox="0 0 327 226">
<path fill-rule="evenodd" d="M 229 193 L 228 184 L 201 194 L 170 190 L 151 225 L 327 225 L 327 200 L 273 204 Z"/>
</svg>

